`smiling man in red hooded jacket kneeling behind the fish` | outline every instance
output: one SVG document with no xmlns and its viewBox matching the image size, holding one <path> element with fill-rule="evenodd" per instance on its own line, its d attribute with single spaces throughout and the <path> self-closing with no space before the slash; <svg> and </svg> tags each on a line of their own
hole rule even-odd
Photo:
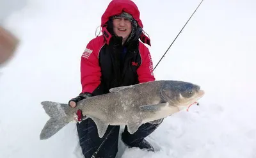
<svg viewBox="0 0 256 158">
<path fill-rule="evenodd" d="M 143 33 L 140 12 L 130 0 L 113 0 L 102 15 L 102 34 L 91 40 L 81 57 L 80 95 L 69 101 L 71 107 L 76 102 L 95 95 L 109 93 L 110 88 L 154 81 L 153 65 L 148 48 L 150 40 Z M 140 42 L 139 38 L 141 39 Z M 134 133 L 127 127 L 122 133 L 122 141 L 129 147 L 154 151 L 144 138 L 159 124 L 145 123 Z M 106 134 L 112 129 L 109 125 Z M 115 157 L 118 150 L 119 126 L 116 126 L 97 157 Z M 77 132 L 84 157 L 92 157 L 104 140 L 99 138 L 97 127 L 88 118 L 77 123 Z M 105 134 L 105 135 L 106 135 Z"/>
</svg>

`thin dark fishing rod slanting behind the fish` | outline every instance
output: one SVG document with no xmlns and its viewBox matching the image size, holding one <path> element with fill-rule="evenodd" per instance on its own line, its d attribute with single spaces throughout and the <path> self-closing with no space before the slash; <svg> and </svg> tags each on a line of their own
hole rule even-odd
<svg viewBox="0 0 256 158">
<path fill-rule="evenodd" d="M 201 3 L 197 6 L 196 10 L 199 8 L 199 6 L 202 4 L 204 0 L 201 1 Z M 195 12 L 196 12 L 195 10 Z M 191 17 L 193 17 L 194 13 L 191 15 Z M 180 30 L 179 34 L 176 36 L 176 38 L 173 40 L 172 44 L 175 42 L 175 40 L 178 38 L 178 36 L 180 35 L 180 33 L 182 32 L 182 30 L 185 28 L 185 26 L 188 24 L 189 20 L 191 19 L 191 17 L 189 17 L 188 21 L 186 22 L 186 24 L 183 26 L 183 28 Z M 172 44 L 170 45 L 170 47 L 172 47 Z M 168 52 L 168 50 L 170 49 L 170 47 L 168 47 L 167 51 L 164 53 L 164 55 Z M 164 58 L 164 55 L 162 56 L 162 58 L 158 61 L 157 65 L 161 62 L 161 60 Z M 157 67 L 156 65 L 156 67 Z M 155 67 L 155 68 L 156 68 Z M 155 68 L 153 69 L 153 71 L 155 70 Z M 104 145 L 104 143 L 106 142 L 106 140 L 108 139 L 109 135 L 111 134 L 111 132 L 115 129 L 115 126 L 111 128 L 111 130 L 108 132 L 107 136 L 104 138 L 104 140 L 102 141 L 102 143 L 100 144 L 99 148 L 97 148 L 96 152 L 93 153 L 91 158 L 96 158 L 99 150 L 102 148 L 102 146 Z"/>
</svg>

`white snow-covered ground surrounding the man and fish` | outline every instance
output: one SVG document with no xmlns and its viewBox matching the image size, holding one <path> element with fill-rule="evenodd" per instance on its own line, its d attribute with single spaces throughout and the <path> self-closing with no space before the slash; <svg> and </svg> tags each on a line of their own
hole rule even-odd
<svg viewBox="0 0 256 158">
<path fill-rule="evenodd" d="M 1 158 L 83 157 L 74 123 L 39 140 L 49 119 L 40 102 L 67 103 L 80 93 L 80 57 L 109 2 L 1 1 L 0 22 L 21 40 L 0 69 Z M 134 2 L 156 65 L 200 0 Z M 166 118 L 147 138 L 157 152 L 120 142 L 117 157 L 256 157 L 255 7 L 254 0 L 202 3 L 154 72 L 157 80 L 199 84 L 200 106 Z"/>
</svg>

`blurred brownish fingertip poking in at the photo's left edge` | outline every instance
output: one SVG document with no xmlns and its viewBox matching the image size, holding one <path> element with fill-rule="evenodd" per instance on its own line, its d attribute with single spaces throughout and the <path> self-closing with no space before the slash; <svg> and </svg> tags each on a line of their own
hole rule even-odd
<svg viewBox="0 0 256 158">
<path fill-rule="evenodd" d="M 19 40 L 12 33 L 0 26 L 0 65 L 13 56 L 18 43 Z"/>
</svg>

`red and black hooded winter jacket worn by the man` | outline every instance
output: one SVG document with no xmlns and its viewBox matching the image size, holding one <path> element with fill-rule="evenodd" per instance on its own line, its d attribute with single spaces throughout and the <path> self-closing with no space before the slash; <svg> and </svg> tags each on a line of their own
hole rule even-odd
<svg viewBox="0 0 256 158">
<path fill-rule="evenodd" d="M 140 28 L 140 12 L 130 0 L 113 0 L 109 3 L 106 12 L 102 15 L 102 33 L 91 40 L 81 57 L 81 84 L 82 92 L 100 95 L 108 93 L 110 88 L 128 86 L 131 84 L 154 81 L 153 64 L 148 48 L 150 40 L 143 33 L 138 39 L 127 45 L 122 45 L 122 40 L 111 35 L 107 22 L 109 17 L 122 13 L 130 13 L 138 22 Z M 114 44 L 115 43 L 115 44 Z M 120 59 L 121 52 L 125 52 L 124 59 Z"/>
</svg>

